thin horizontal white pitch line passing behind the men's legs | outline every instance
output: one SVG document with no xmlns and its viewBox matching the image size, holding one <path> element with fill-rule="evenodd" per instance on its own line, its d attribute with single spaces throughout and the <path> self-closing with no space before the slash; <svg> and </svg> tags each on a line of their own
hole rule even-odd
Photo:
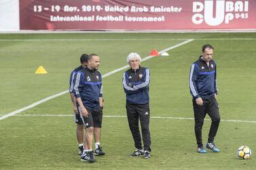
<svg viewBox="0 0 256 170">
<path fill-rule="evenodd" d="M 74 116 L 73 114 L 19 114 L 14 116 Z M 122 115 L 103 115 L 103 117 L 108 118 L 126 118 L 127 116 Z M 163 116 L 150 116 L 151 119 L 179 119 L 179 120 L 194 120 L 192 117 L 163 117 Z M 206 121 L 211 121 L 211 119 L 204 119 Z M 236 123 L 256 123 L 256 121 L 242 121 L 242 120 L 225 120 L 221 119 L 221 121 L 225 122 L 236 122 Z"/>
</svg>

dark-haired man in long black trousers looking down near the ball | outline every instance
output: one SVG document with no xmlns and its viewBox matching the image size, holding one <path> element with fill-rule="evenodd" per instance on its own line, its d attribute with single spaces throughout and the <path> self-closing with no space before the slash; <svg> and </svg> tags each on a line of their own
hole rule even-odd
<svg viewBox="0 0 256 170">
<path fill-rule="evenodd" d="M 206 148 L 219 152 L 219 149 L 213 143 L 220 122 L 219 104 L 217 103 L 216 64 L 212 60 L 213 49 L 213 46 L 209 44 L 202 46 L 202 56 L 191 65 L 189 75 L 199 153 L 206 153 L 202 144 L 202 126 L 206 113 L 212 121 Z"/>
</svg>

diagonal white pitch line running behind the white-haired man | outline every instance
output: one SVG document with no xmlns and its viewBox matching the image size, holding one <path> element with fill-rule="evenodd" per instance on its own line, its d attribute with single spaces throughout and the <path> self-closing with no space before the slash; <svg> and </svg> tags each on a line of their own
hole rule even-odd
<svg viewBox="0 0 256 170">
<path fill-rule="evenodd" d="M 188 39 L 187 41 L 183 41 L 182 43 L 179 43 L 179 44 L 177 44 L 177 45 L 173 45 L 173 46 L 171 46 L 171 47 L 168 47 L 168 48 L 166 48 L 166 49 L 160 51 L 160 54 L 161 54 L 162 52 L 164 52 L 164 51 L 168 51 L 168 50 L 170 50 L 170 49 L 177 48 L 177 47 L 179 47 L 179 46 L 181 46 L 181 45 L 185 45 L 186 43 L 189 43 L 189 42 L 191 42 L 191 41 L 194 41 L 194 39 Z M 147 56 L 146 58 L 143 58 L 143 60 L 141 60 L 141 62 L 146 61 L 146 60 L 149 60 L 150 58 L 153 58 L 153 57 L 154 57 L 154 56 Z M 126 66 L 122 66 L 121 68 L 117 68 L 117 69 L 115 69 L 115 70 L 113 70 L 113 71 L 111 71 L 111 72 L 107 72 L 105 75 L 103 75 L 103 78 L 104 78 L 104 77 L 108 77 L 108 76 L 110 76 L 110 75 L 113 75 L 115 72 L 119 72 L 119 71 L 124 70 L 125 68 L 128 68 L 128 67 L 129 67 L 129 66 L 126 65 Z M 56 97 L 58 97 L 58 96 L 60 96 L 60 95 L 63 95 L 63 94 L 65 94 L 65 93 L 68 93 L 68 92 L 69 92 L 68 90 L 65 90 L 65 91 L 62 91 L 62 92 L 60 92 L 60 93 L 56 93 L 56 94 L 54 94 L 54 95 L 49 96 L 48 98 L 44 98 L 44 99 L 39 100 L 39 101 L 37 101 L 37 102 L 35 102 L 35 103 L 33 103 L 33 104 L 30 104 L 29 106 L 25 106 L 24 108 L 20 108 L 20 109 L 18 109 L 18 110 L 15 110 L 14 112 L 10 112 L 10 113 L 8 113 L 8 114 L 4 114 L 3 116 L 0 117 L 0 121 L 3 120 L 3 119 L 8 118 L 8 117 L 10 117 L 10 116 L 13 116 L 14 114 L 18 114 L 18 113 L 20 113 L 20 112 L 23 112 L 24 110 L 28 110 L 29 108 L 33 108 L 33 107 L 35 107 L 35 106 L 37 106 L 37 105 L 39 105 L 39 104 L 41 104 L 41 103 L 43 103 L 43 102 L 46 102 L 46 101 L 48 101 L 48 100 L 51 100 L 51 99 L 53 99 L 53 98 L 56 98 Z"/>
</svg>

